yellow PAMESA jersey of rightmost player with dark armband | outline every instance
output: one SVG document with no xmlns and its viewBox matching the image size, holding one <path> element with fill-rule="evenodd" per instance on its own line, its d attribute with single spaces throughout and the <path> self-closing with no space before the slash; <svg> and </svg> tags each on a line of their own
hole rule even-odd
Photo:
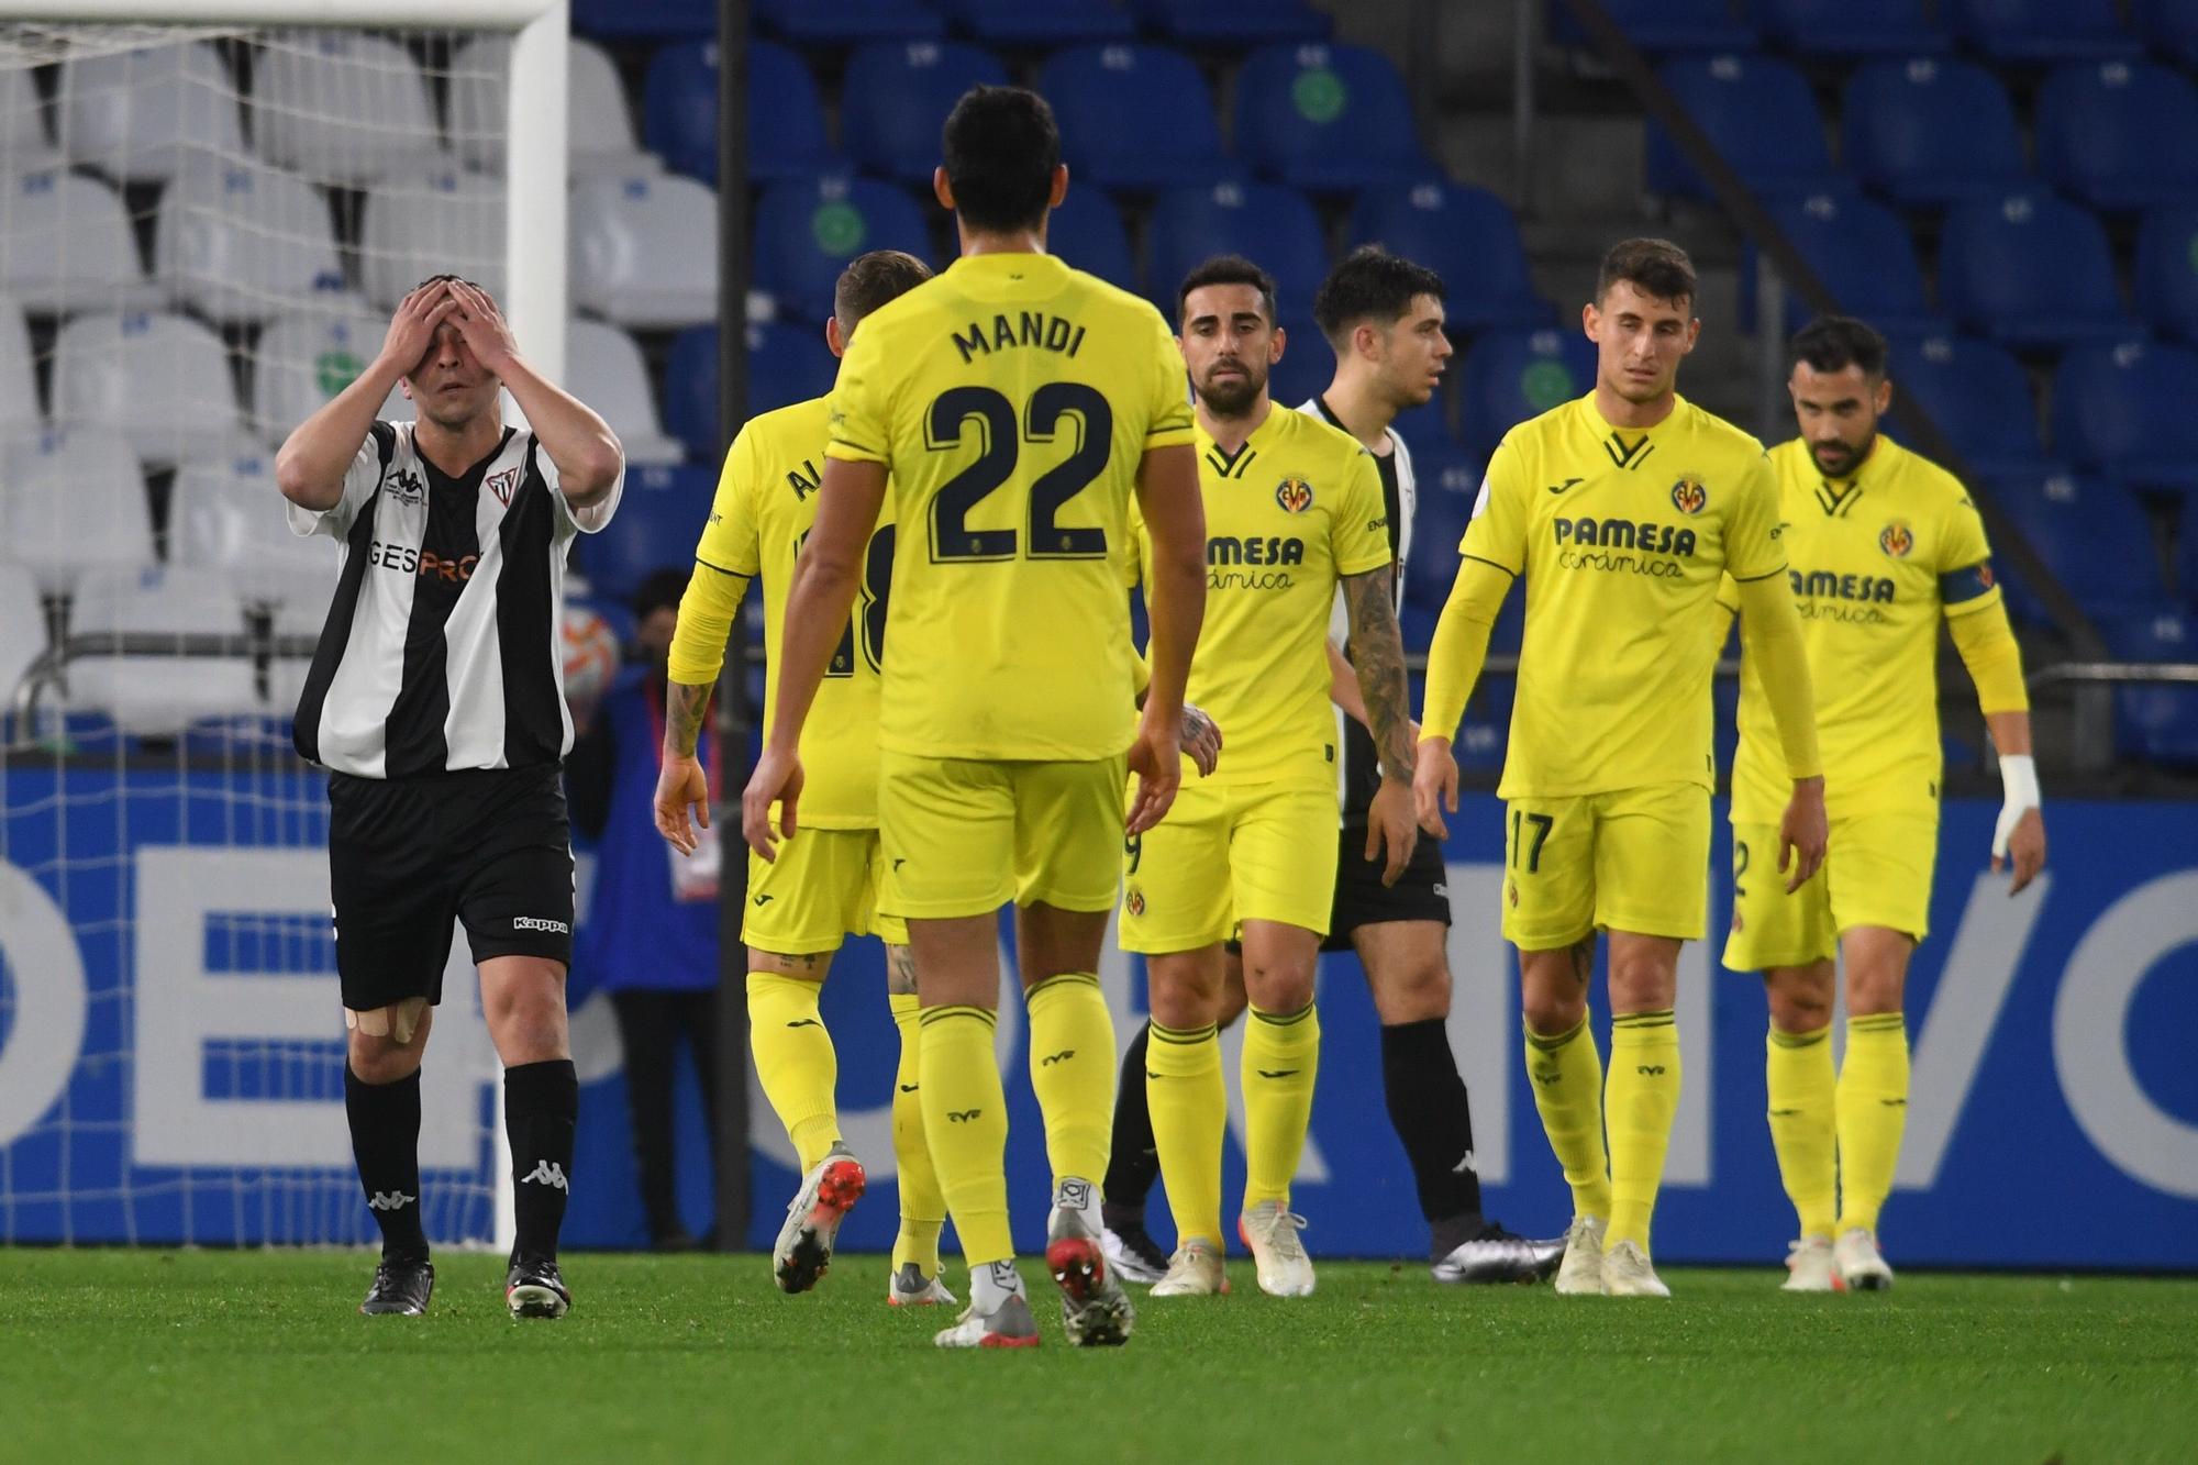
<svg viewBox="0 0 2198 1465">
<path fill-rule="evenodd" d="M 1961 482 L 1881 436 L 1849 480 L 1800 438 L 1772 449 L 1783 543 L 1816 682 L 1833 818 L 1939 801 L 1939 618 L 1998 605 L 1985 524 Z M 1728 587 L 1725 603 L 1739 601 Z M 1763 686 L 1741 664 L 1732 818 L 1776 823 L 1791 794 Z"/>
</svg>

